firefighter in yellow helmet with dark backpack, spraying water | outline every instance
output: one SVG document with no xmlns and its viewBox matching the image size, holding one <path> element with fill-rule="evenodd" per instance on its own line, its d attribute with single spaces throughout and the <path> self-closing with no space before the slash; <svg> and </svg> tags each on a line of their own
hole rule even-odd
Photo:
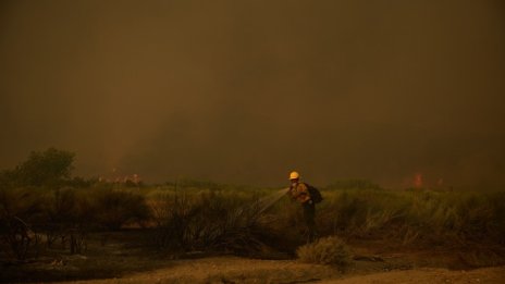
<svg viewBox="0 0 505 284">
<path fill-rule="evenodd" d="M 290 196 L 293 200 L 301 203 L 304 219 L 307 226 L 307 243 L 316 239 L 316 203 L 313 202 L 307 184 L 301 183 L 298 172 L 290 174 Z"/>
</svg>

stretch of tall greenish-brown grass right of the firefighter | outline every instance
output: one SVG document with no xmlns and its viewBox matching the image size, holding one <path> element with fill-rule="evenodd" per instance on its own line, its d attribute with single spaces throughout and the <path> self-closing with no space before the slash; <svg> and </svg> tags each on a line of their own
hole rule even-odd
<svg viewBox="0 0 505 284">
<path fill-rule="evenodd" d="M 329 195 L 319 209 L 324 234 L 404 245 L 503 244 L 505 236 L 505 193 L 346 189 Z"/>
</svg>

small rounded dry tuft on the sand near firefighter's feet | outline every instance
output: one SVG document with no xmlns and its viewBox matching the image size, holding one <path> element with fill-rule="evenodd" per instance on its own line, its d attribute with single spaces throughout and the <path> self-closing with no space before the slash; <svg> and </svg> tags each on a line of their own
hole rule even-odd
<svg viewBox="0 0 505 284">
<path fill-rule="evenodd" d="M 320 238 L 296 250 L 298 259 L 307 263 L 334 264 L 346 267 L 350 263 L 350 250 L 347 245 L 336 236 Z"/>
</svg>

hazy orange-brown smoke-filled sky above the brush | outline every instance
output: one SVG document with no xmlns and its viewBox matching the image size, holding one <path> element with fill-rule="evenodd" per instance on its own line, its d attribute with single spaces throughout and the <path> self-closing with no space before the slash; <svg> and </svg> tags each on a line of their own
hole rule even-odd
<svg viewBox="0 0 505 284">
<path fill-rule="evenodd" d="M 504 186 L 502 1 L 3 0 L 0 169 Z"/>
</svg>

